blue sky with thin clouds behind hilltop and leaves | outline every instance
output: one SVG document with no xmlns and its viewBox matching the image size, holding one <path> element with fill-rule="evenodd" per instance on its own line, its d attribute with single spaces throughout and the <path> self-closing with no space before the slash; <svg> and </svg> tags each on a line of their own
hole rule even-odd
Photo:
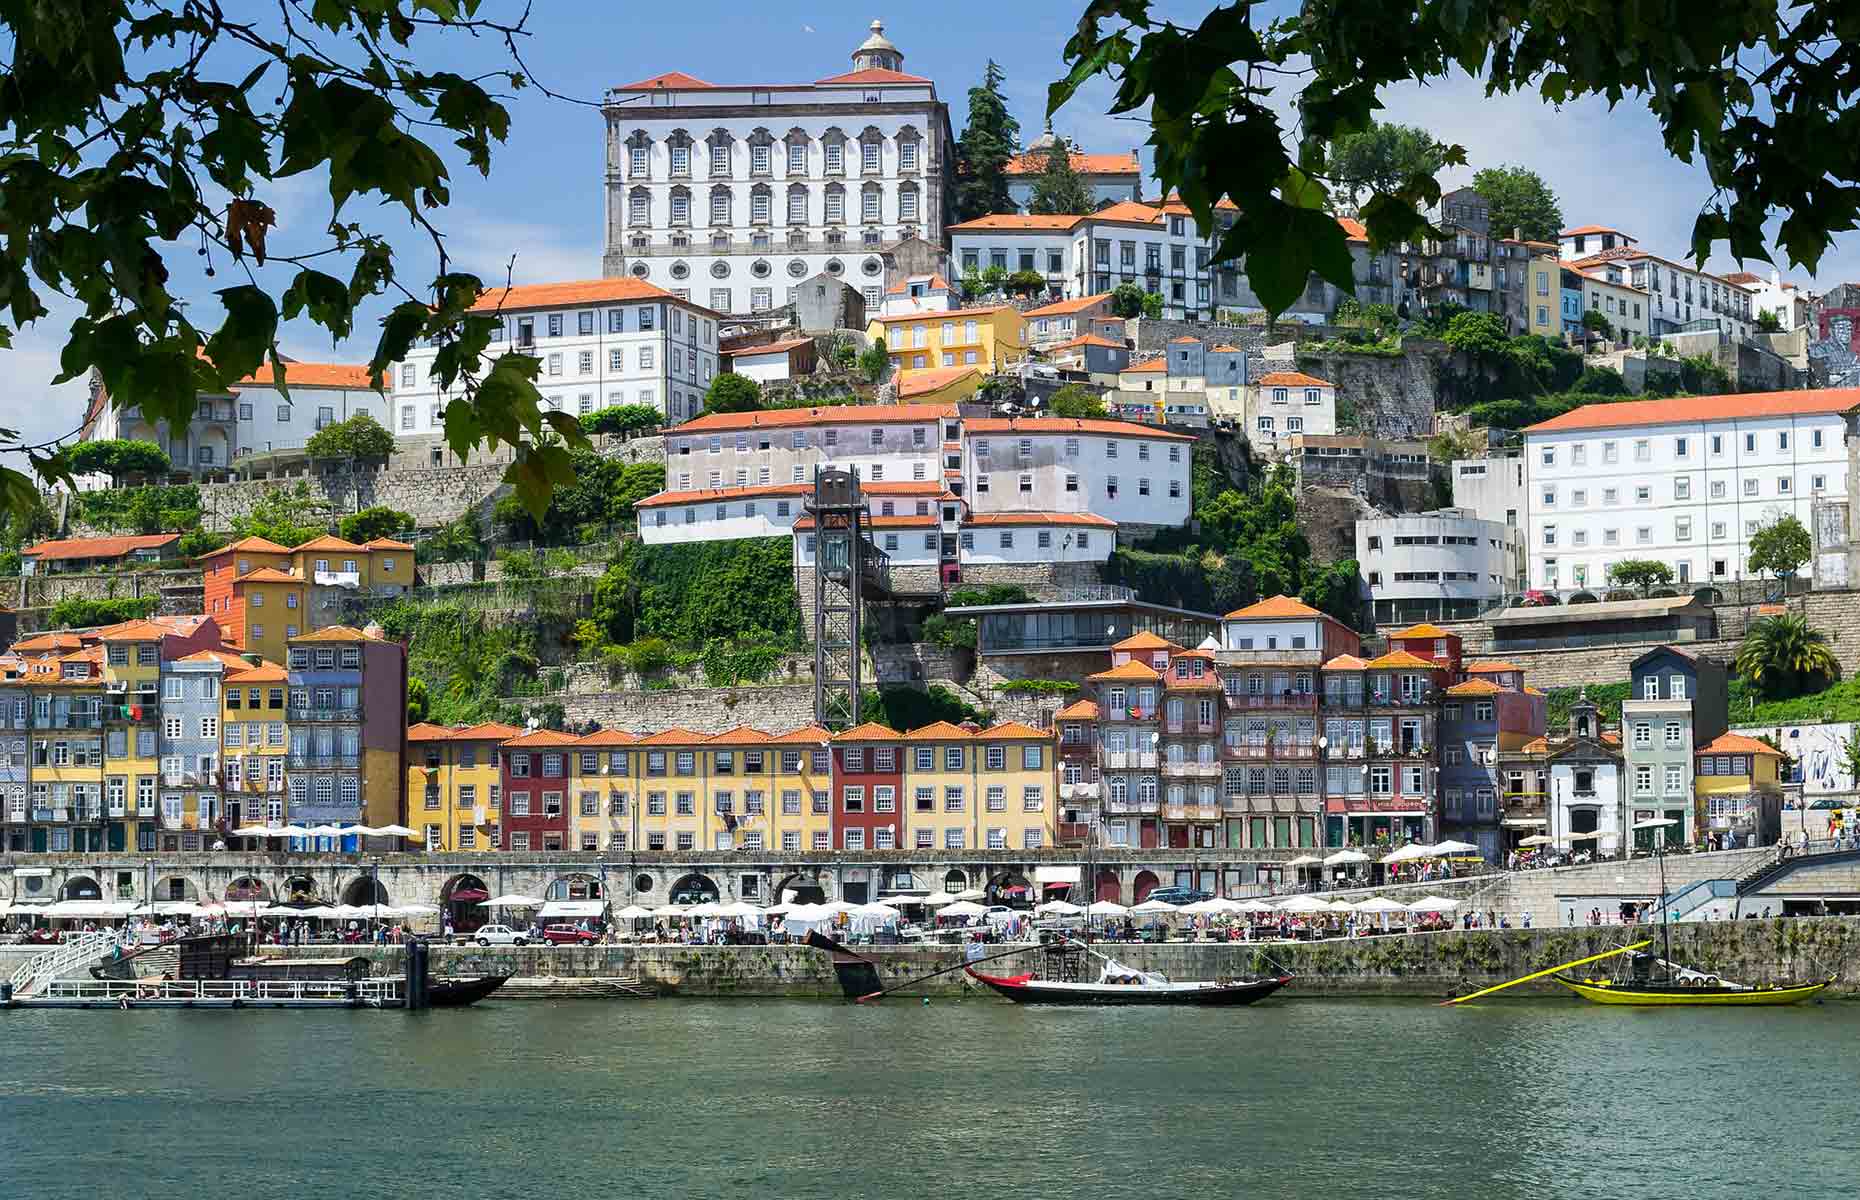
<svg viewBox="0 0 1860 1200">
<path fill-rule="evenodd" d="M 521 11 L 521 6 L 485 0 L 487 11 Z M 960 134 L 967 89 L 993 58 L 1008 74 L 1006 93 L 1021 121 L 1023 138 L 1042 128 L 1047 84 L 1062 74 L 1062 48 L 1077 22 L 1079 0 L 943 0 L 941 4 L 716 4 L 688 0 L 664 9 L 640 4 L 539 4 L 530 17 L 532 35 L 523 56 L 552 91 L 599 100 L 604 87 L 660 71 L 686 71 L 711 82 L 798 82 L 848 67 L 848 56 L 878 17 L 885 33 L 904 50 L 904 67 L 936 80 L 950 104 Z M 1162 0 L 1157 11 L 1196 22 L 1209 4 Z M 1274 9 L 1285 6 L 1272 6 Z M 489 41 L 433 41 L 428 58 L 458 71 L 484 71 L 504 61 L 502 47 Z M 1092 86 L 1055 121 L 1058 132 L 1094 151 L 1140 147 L 1148 128 L 1140 121 L 1105 115 L 1110 91 Z M 1386 97 L 1386 119 L 1421 125 L 1445 141 L 1468 149 L 1471 167 L 1523 164 L 1544 175 L 1562 201 L 1570 223 L 1605 223 L 1626 229 L 1655 253 L 1681 257 L 1693 218 L 1709 195 L 1704 171 L 1674 162 L 1659 141 L 1652 115 L 1641 104 L 1609 112 L 1601 102 L 1551 108 L 1534 97 L 1492 99 L 1471 78 L 1432 87 L 1406 86 Z M 500 279 L 515 255 L 519 283 L 595 277 L 601 272 L 601 119 L 599 113 L 528 89 L 512 100 L 510 143 L 497 151 L 489 179 L 454 173 L 452 207 L 435 221 L 448 234 L 459 270 Z M 1148 154 L 1146 154 L 1148 162 Z M 1469 169 L 1458 175 L 1469 177 Z M 1443 182 L 1462 182 L 1449 177 Z M 327 221 L 327 199 L 311 179 L 270 186 L 260 199 L 281 218 L 273 249 L 281 244 L 314 242 Z M 352 205 L 346 220 L 376 223 L 389 233 L 402 257 L 409 285 L 430 277 L 432 251 L 420 246 L 404 221 L 387 210 Z M 1786 277 L 1815 283 L 1817 290 L 1860 277 L 1860 240 L 1847 238 L 1823 260 L 1815 279 L 1804 272 Z M 1735 270 L 1728 259 L 1720 270 Z M 190 247 L 169 253 L 177 287 L 199 305 L 195 320 L 218 324 L 218 279 L 195 273 Z M 1750 270 L 1767 270 L 1752 264 Z M 281 292 L 288 273 L 264 272 L 260 283 Z M 54 303 L 54 314 L 15 337 L 6 352 L 11 387 L 0 394 L 0 424 L 19 428 L 28 439 L 69 432 L 82 417 L 84 385 L 52 387 L 58 348 L 71 309 Z M 365 361 L 374 348 L 374 320 L 385 303 L 357 320 L 357 337 L 331 346 L 329 337 L 296 322 L 281 337 L 285 353 L 299 359 Z"/>
</svg>

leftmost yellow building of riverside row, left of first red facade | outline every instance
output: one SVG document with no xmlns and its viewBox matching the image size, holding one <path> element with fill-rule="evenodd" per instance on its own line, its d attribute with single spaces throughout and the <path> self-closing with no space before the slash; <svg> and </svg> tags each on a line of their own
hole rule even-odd
<svg viewBox="0 0 1860 1200">
<path fill-rule="evenodd" d="M 521 733 L 497 722 L 407 729 L 407 824 L 430 854 L 498 847 L 500 746 Z"/>
</svg>

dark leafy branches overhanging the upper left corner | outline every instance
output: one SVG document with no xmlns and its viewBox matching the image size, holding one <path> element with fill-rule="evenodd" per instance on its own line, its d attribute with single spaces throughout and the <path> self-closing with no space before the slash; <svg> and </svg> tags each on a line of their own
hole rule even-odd
<svg viewBox="0 0 1860 1200">
<path fill-rule="evenodd" d="M 534 357 L 510 352 L 484 367 L 493 318 L 467 314 L 482 281 L 454 270 L 435 225 L 452 195 L 441 147 L 487 173 L 510 132 L 502 99 L 530 84 L 515 50 L 521 19 L 478 9 L 480 0 L 9 6 L 0 344 L 48 314 L 46 296 L 69 296 L 80 313 L 56 381 L 95 370 L 112 404 L 179 428 L 197 394 L 253 374 L 288 394 L 281 320 L 309 318 L 342 340 L 359 305 L 392 296 L 368 365 L 379 380 L 417 339 L 435 344 L 456 452 L 538 441 L 549 428 L 573 443 L 575 419 L 539 407 Z M 508 60 L 472 74 L 432 65 L 484 41 Z M 329 208 L 286 229 L 272 205 L 292 177 L 322 186 Z M 430 277 L 402 279 L 379 225 L 352 216 L 383 208 L 394 216 L 374 221 L 405 220 L 430 244 Z M 216 294 L 218 316 L 184 303 L 197 272 L 236 277 Z M 45 478 L 69 478 L 50 443 L 19 447 L 4 432 L 4 447 L 24 448 Z M 534 508 L 565 478 L 565 445 L 506 473 Z M 26 474 L 0 469 L 0 502 L 19 502 L 26 487 Z"/>
</svg>

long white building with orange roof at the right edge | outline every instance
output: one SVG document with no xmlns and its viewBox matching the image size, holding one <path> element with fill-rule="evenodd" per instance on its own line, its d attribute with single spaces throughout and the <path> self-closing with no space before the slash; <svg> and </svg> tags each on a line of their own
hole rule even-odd
<svg viewBox="0 0 1860 1200">
<path fill-rule="evenodd" d="M 1680 584 L 1752 575 L 1758 528 L 1847 504 L 1847 428 L 1860 389 L 1590 404 L 1525 435 L 1529 582 L 1607 586 L 1655 558 Z M 1845 549 L 1845 534 L 1840 547 Z"/>
</svg>

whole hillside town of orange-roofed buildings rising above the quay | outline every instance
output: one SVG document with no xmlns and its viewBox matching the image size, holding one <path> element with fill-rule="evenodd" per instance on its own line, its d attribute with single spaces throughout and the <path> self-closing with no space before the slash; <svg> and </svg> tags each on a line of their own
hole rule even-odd
<svg viewBox="0 0 1860 1200">
<path fill-rule="evenodd" d="M 472 307 L 593 437 L 549 517 L 446 443 L 439 346 L 186 426 L 95 380 L 9 547 L 6 850 L 1107 854 L 1144 900 L 1840 833 L 1854 285 L 1462 186 L 1423 242 L 1339 212 L 1354 296 L 1269 318 L 1135 151 L 1047 130 L 958 212 L 882 24 L 818 69 L 612 87 L 601 260 Z"/>
</svg>

